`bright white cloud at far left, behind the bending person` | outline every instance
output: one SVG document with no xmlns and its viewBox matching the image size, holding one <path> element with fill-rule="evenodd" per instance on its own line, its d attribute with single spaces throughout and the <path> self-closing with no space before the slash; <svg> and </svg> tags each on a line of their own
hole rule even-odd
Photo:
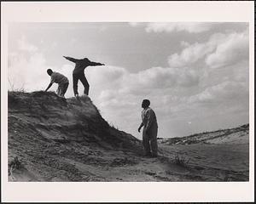
<svg viewBox="0 0 256 204">
<path fill-rule="evenodd" d="M 47 69 L 56 70 L 47 65 L 44 54 L 25 36 L 17 40 L 16 50 L 9 53 L 8 58 L 9 89 L 24 88 L 27 92 L 44 90 L 49 84 Z"/>
</svg>

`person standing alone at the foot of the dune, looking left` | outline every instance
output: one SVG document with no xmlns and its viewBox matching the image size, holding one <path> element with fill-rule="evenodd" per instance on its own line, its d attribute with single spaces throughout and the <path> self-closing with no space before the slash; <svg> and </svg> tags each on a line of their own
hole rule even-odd
<svg viewBox="0 0 256 204">
<path fill-rule="evenodd" d="M 143 99 L 142 103 L 142 120 L 138 132 L 141 132 L 143 127 L 143 147 L 145 156 L 157 157 L 157 131 L 158 124 L 154 111 L 149 107 L 150 101 Z"/>
</svg>

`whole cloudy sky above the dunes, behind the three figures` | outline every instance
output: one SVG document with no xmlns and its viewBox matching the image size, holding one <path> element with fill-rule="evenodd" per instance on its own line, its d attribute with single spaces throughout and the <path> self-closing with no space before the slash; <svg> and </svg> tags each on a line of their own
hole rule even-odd
<svg viewBox="0 0 256 204">
<path fill-rule="evenodd" d="M 73 97 L 74 64 L 62 56 L 88 57 L 105 64 L 84 71 L 90 99 L 138 139 L 143 99 L 159 137 L 236 127 L 249 122 L 248 38 L 247 23 L 11 23 L 9 89 L 44 90 L 51 68 Z"/>
</svg>

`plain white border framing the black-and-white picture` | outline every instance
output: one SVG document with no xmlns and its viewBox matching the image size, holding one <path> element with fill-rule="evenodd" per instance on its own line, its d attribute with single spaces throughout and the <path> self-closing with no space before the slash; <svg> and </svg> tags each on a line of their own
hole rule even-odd
<svg viewBox="0 0 256 204">
<path fill-rule="evenodd" d="M 9 182 L 7 54 L 10 22 L 248 22 L 250 36 L 249 182 Z M 1 194 L 3 202 L 254 201 L 253 1 L 2 2 Z"/>
</svg>

